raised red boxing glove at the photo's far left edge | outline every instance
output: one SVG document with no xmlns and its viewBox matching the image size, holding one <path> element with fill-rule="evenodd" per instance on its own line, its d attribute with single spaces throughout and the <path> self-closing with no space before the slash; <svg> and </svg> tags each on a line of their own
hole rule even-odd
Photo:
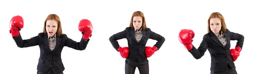
<svg viewBox="0 0 256 74">
<path fill-rule="evenodd" d="M 10 21 L 10 33 L 12 33 L 12 37 L 18 36 L 20 34 L 20 29 L 24 26 L 24 21 L 21 16 L 13 16 Z"/>
</svg>

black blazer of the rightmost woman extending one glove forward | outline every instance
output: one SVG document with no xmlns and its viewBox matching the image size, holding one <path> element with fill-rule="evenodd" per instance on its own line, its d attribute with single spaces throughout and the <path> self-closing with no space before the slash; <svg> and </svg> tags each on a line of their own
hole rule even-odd
<svg viewBox="0 0 256 74">
<path fill-rule="evenodd" d="M 237 40 L 236 46 L 239 46 L 242 49 L 244 36 L 230 32 L 228 29 L 226 29 L 226 32 L 223 34 L 227 38 L 227 44 L 225 47 L 221 44 L 221 41 L 218 40 L 217 36 L 211 32 L 204 35 L 203 41 L 198 49 L 193 46 L 193 49 L 189 50 L 195 59 L 199 59 L 204 55 L 206 49 L 208 49 L 211 55 L 211 71 L 224 71 L 227 68 L 227 64 L 229 64 L 233 69 L 236 69 L 229 51 L 230 40 Z"/>
</svg>

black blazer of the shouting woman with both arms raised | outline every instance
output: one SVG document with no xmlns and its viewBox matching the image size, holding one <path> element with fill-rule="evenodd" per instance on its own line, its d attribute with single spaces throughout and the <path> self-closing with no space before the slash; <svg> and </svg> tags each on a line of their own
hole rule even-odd
<svg viewBox="0 0 256 74">
<path fill-rule="evenodd" d="M 51 66 L 55 74 L 59 74 L 65 69 L 61 61 L 61 51 L 64 46 L 84 50 L 87 47 L 88 41 L 90 41 L 89 39 L 85 41 L 81 38 L 80 42 L 76 42 L 68 38 L 66 34 L 61 34 L 56 36 L 56 46 L 51 51 L 48 44 L 48 35 L 44 33 L 39 33 L 38 36 L 26 40 L 23 40 L 21 36 L 14 37 L 13 39 L 20 48 L 39 45 L 40 58 L 37 70 L 46 73 Z"/>
</svg>

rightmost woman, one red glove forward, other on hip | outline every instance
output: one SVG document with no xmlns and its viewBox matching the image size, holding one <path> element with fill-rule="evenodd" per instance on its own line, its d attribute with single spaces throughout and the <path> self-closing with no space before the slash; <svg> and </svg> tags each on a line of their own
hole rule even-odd
<svg viewBox="0 0 256 74">
<path fill-rule="evenodd" d="M 234 61 L 239 57 L 244 36 L 230 32 L 220 13 L 214 12 L 209 16 L 208 33 L 198 49 L 192 44 L 194 35 L 192 30 L 183 29 L 179 33 L 179 40 L 195 59 L 200 59 L 208 49 L 212 61 L 211 74 L 237 74 Z M 237 40 L 235 49 L 230 49 L 230 40 Z"/>
</svg>

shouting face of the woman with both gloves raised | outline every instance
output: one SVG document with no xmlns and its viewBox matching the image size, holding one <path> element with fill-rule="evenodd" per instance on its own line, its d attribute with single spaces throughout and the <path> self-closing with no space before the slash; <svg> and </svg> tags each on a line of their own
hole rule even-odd
<svg viewBox="0 0 256 74">
<path fill-rule="evenodd" d="M 58 23 L 55 20 L 47 20 L 46 22 L 46 31 L 47 35 L 53 37 L 58 30 Z"/>
</svg>

